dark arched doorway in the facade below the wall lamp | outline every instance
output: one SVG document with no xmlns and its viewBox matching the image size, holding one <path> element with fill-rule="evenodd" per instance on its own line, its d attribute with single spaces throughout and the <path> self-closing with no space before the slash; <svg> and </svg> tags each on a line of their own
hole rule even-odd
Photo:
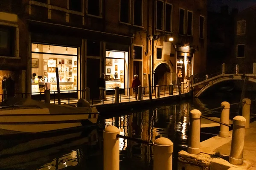
<svg viewBox="0 0 256 170">
<path fill-rule="evenodd" d="M 167 62 L 160 62 L 154 69 L 154 86 L 169 85 L 171 82 L 171 68 Z"/>
</svg>

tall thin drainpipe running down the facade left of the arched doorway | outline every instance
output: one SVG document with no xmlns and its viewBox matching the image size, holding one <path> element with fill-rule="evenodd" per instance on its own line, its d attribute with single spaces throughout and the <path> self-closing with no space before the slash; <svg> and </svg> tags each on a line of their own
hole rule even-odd
<svg viewBox="0 0 256 170">
<path fill-rule="evenodd" d="M 153 40 L 152 40 L 152 65 L 151 65 L 151 88 L 152 92 L 154 89 L 154 34 L 155 34 L 155 1 L 152 0 L 152 35 L 153 35 Z"/>
</svg>

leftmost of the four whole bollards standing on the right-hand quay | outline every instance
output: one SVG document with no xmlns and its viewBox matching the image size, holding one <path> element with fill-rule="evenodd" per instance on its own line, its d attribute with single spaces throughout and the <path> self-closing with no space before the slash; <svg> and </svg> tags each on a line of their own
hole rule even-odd
<svg viewBox="0 0 256 170">
<path fill-rule="evenodd" d="M 197 109 L 190 111 L 188 153 L 191 154 L 200 153 L 201 115 L 201 111 L 198 111 Z"/>
</svg>

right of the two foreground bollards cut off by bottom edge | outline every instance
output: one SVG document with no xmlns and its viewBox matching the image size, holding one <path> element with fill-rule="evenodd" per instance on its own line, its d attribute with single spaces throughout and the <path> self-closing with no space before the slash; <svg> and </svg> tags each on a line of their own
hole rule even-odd
<svg viewBox="0 0 256 170">
<path fill-rule="evenodd" d="M 173 143 L 168 138 L 153 142 L 154 170 L 172 170 Z"/>
</svg>

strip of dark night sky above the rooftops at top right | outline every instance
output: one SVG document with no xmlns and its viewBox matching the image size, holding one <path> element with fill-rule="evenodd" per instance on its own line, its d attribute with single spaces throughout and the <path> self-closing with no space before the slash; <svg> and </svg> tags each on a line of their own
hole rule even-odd
<svg viewBox="0 0 256 170">
<path fill-rule="evenodd" d="M 256 0 L 208 0 L 208 11 L 220 12 L 221 6 L 228 5 L 229 11 L 238 8 L 242 11 L 250 6 L 256 5 Z"/>
</svg>

